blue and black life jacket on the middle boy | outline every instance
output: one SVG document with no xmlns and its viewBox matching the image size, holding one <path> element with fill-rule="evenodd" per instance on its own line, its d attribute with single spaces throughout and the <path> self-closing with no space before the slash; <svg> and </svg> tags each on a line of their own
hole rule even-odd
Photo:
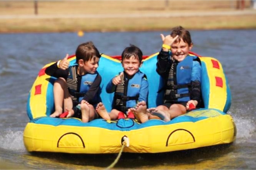
<svg viewBox="0 0 256 170">
<path fill-rule="evenodd" d="M 141 81 L 145 76 L 146 75 L 144 73 L 138 71 L 131 79 L 124 78 L 124 85 L 117 85 L 124 86 L 124 92 L 117 92 L 116 87 L 114 100 L 115 103 L 113 105 L 113 108 L 125 113 L 129 108 L 134 107 L 137 104 L 140 95 Z M 116 103 L 118 103 L 118 100 L 119 103 L 122 103 L 121 105 L 116 105 Z"/>
</svg>

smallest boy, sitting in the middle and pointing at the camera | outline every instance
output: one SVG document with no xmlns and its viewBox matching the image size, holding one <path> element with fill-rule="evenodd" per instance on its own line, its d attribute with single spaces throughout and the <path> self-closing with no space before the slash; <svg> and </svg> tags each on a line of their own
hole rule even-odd
<svg viewBox="0 0 256 170">
<path fill-rule="evenodd" d="M 106 86 L 108 93 L 115 92 L 113 108 L 108 114 L 103 103 L 98 103 L 96 106 L 96 111 L 103 119 L 116 120 L 126 116 L 134 118 L 130 108 L 136 107 L 138 102 L 147 101 L 148 80 L 139 70 L 143 63 L 142 56 L 141 50 L 134 45 L 126 47 L 122 52 L 121 64 L 124 71 L 112 78 Z"/>
</svg>

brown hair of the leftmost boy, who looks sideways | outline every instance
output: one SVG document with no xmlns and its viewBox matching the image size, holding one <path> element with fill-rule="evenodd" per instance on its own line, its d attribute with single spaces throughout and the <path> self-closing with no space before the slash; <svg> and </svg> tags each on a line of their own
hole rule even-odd
<svg viewBox="0 0 256 170">
<path fill-rule="evenodd" d="M 76 63 L 80 59 L 82 59 L 84 62 L 89 61 L 91 59 L 100 58 L 100 52 L 98 49 L 94 46 L 93 42 L 88 41 L 87 43 L 80 44 L 76 49 Z"/>
</svg>

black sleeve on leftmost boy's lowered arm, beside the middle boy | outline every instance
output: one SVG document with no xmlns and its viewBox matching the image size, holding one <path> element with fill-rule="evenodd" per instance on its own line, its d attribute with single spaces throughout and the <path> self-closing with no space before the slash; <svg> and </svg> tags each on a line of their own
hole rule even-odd
<svg viewBox="0 0 256 170">
<path fill-rule="evenodd" d="M 98 74 L 94 82 L 92 83 L 90 89 L 85 93 L 83 100 L 86 100 L 90 103 L 91 100 L 93 100 L 96 93 L 98 92 L 98 90 L 100 89 L 100 83 L 101 83 L 101 76 Z"/>
</svg>

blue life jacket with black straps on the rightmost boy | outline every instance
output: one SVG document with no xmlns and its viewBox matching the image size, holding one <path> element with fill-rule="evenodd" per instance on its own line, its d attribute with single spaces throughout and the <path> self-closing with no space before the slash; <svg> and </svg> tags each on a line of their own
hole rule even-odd
<svg viewBox="0 0 256 170">
<path fill-rule="evenodd" d="M 164 100 L 176 100 L 178 102 L 186 102 L 190 100 L 191 74 L 193 68 L 193 60 L 197 56 L 187 56 L 176 65 L 176 76 L 174 77 L 175 85 L 167 85 L 166 90 L 176 90 L 177 93 L 171 93 L 164 96 Z"/>
</svg>

